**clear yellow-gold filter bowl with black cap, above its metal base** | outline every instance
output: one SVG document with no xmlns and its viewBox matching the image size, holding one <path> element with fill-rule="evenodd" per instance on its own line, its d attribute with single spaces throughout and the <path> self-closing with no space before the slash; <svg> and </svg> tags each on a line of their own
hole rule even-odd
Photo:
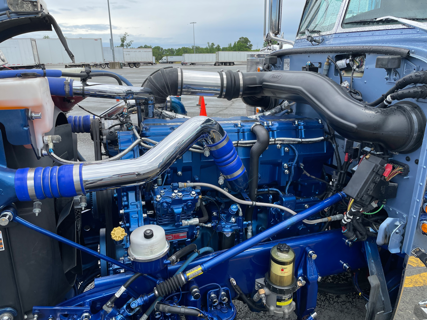
<svg viewBox="0 0 427 320">
<path fill-rule="evenodd" d="M 287 287 L 294 282 L 295 252 L 286 243 L 279 243 L 270 251 L 269 280 L 273 285 Z"/>
</svg>

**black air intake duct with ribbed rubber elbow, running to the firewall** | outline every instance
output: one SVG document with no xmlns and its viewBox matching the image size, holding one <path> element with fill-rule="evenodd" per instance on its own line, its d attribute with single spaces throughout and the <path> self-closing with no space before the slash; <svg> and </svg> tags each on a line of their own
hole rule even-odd
<svg viewBox="0 0 427 320">
<path fill-rule="evenodd" d="M 178 84 L 182 90 L 185 84 L 183 70 L 179 71 L 180 77 L 178 68 L 160 69 L 144 81 L 143 87 L 152 89 L 156 103 L 166 101 L 169 95 L 177 95 Z M 422 143 L 426 118 L 421 108 L 412 102 L 401 101 L 386 109 L 372 108 L 353 99 L 333 80 L 313 72 L 239 73 L 228 70 L 225 74 L 226 92 L 222 94 L 222 79 L 219 95 L 222 98 L 269 96 L 305 103 L 311 105 L 342 137 L 357 142 L 379 143 L 394 152 L 409 153 Z M 202 73 L 199 73 L 199 93 L 203 93 L 203 88 L 211 92 L 214 85 L 218 86 L 219 77 L 223 76 L 213 72 L 206 72 L 205 75 L 206 82 L 203 83 Z M 215 77 L 218 80 L 213 83 Z M 421 75 L 419 78 L 422 81 Z"/>
</svg>

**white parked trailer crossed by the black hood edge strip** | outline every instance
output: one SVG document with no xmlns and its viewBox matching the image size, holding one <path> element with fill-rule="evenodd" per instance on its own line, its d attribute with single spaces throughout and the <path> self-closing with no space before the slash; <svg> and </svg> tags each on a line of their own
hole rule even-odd
<svg viewBox="0 0 427 320">
<path fill-rule="evenodd" d="M 73 52 L 73 63 L 65 52 L 59 39 L 35 39 L 40 63 L 46 68 L 58 67 L 101 67 L 104 63 L 101 38 L 67 39 L 68 47 Z"/>
</svg>

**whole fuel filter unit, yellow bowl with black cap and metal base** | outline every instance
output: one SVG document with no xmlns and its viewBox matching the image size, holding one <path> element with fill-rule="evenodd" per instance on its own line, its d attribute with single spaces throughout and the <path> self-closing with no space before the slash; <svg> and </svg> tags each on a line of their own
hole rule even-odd
<svg viewBox="0 0 427 320">
<path fill-rule="evenodd" d="M 285 243 L 270 250 L 270 268 L 265 278 L 255 280 L 254 301 L 262 300 L 270 315 L 289 317 L 295 310 L 293 293 L 300 288 L 295 278 L 295 252 Z"/>
</svg>

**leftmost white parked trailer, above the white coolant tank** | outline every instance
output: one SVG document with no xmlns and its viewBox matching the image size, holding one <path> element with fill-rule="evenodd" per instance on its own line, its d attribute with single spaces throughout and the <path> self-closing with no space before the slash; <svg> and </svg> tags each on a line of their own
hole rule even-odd
<svg viewBox="0 0 427 320">
<path fill-rule="evenodd" d="M 40 66 L 35 39 L 9 39 L 0 44 L 0 49 L 9 61 L 4 67 L 33 69 Z"/>
</svg>

